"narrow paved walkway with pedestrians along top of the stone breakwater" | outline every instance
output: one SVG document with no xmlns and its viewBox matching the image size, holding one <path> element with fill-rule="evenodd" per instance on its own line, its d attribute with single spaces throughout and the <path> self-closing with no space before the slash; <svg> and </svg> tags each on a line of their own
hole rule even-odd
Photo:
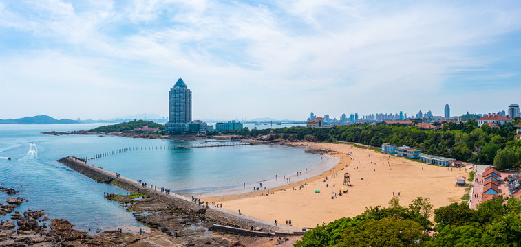
<svg viewBox="0 0 521 247">
<path fill-rule="evenodd" d="M 185 196 L 181 196 L 181 195 L 176 195 L 176 193 L 174 192 L 171 192 L 169 194 L 167 193 L 164 193 L 164 192 L 161 192 L 160 189 L 152 189 L 150 187 L 142 187 L 141 186 L 141 183 L 138 183 L 137 180 L 134 180 L 134 179 L 130 179 L 130 178 L 127 178 L 127 177 L 124 177 L 124 176 L 119 176 L 119 177 L 116 177 L 116 174 L 114 172 L 109 172 L 105 169 L 101 169 L 99 167 L 95 167 L 94 165 L 90 165 L 88 163 L 85 163 L 81 160 L 79 160 L 78 158 L 75 158 L 75 157 L 67 157 L 65 158 L 69 161 L 72 161 L 74 163 L 76 163 L 77 165 L 81 165 L 87 169 L 90 169 L 94 172 L 97 172 L 99 174 L 103 174 L 103 176 L 109 176 L 111 178 L 114 178 L 114 180 L 118 181 L 118 182 L 121 182 L 121 183 L 126 183 L 130 186 L 134 186 L 136 189 L 139 189 L 139 191 L 141 192 L 144 192 L 144 193 L 147 193 L 147 194 L 155 194 L 157 196 L 162 196 L 164 198 L 169 198 L 169 199 L 173 199 L 173 200 L 184 200 L 186 202 L 189 202 L 190 204 L 193 204 L 193 205 L 197 205 L 195 204 L 195 202 L 193 202 L 191 200 L 191 198 L 187 198 Z M 147 185 L 149 184 L 152 184 L 152 183 L 149 183 L 149 181 L 142 181 L 143 183 L 147 183 Z M 203 208 L 202 206 L 197 206 L 197 207 L 200 207 L 201 209 Z M 270 226 L 270 228 L 275 228 L 275 231 L 279 231 L 279 232 L 284 232 L 284 233 L 299 233 L 299 232 L 302 232 L 302 228 L 298 228 L 298 227 L 295 227 L 295 226 L 288 226 L 286 224 L 279 224 L 281 222 L 277 222 L 277 225 L 275 226 L 274 222 L 270 222 L 268 220 L 262 220 L 262 219 L 259 219 L 259 218 L 256 218 L 256 217 L 252 217 L 252 216 L 249 216 L 249 215 L 239 215 L 238 212 L 233 212 L 233 211 L 229 211 L 228 209 L 223 209 L 221 207 L 217 208 L 213 205 L 211 205 L 211 202 L 209 203 L 209 209 L 207 209 L 208 211 L 211 211 L 212 213 L 215 213 L 215 212 L 218 212 L 220 213 L 223 217 L 226 217 L 226 219 L 228 220 L 240 220 L 242 221 L 243 223 L 244 222 L 256 222 L 258 225 L 266 225 L 266 226 Z M 269 207 L 266 207 L 266 210 L 269 210 Z"/>
</svg>

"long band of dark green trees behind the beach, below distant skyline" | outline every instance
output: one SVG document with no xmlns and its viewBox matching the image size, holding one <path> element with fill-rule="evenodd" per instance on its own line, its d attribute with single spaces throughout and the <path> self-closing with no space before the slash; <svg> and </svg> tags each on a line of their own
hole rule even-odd
<svg viewBox="0 0 521 247">
<path fill-rule="evenodd" d="M 352 124 L 330 129 L 318 128 L 280 128 L 273 129 L 275 134 L 286 134 L 282 138 L 295 140 L 317 140 L 332 142 L 348 141 L 379 147 L 382 143 L 407 145 L 418 148 L 425 154 L 456 158 L 460 161 L 491 164 L 498 150 L 506 147 L 520 146 L 514 141 L 515 124 L 521 122 L 516 118 L 502 128 L 482 126 L 478 128 L 476 120 L 466 124 L 445 123 L 439 130 L 423 130 L 416 126 L 370 124 Z M 259 134 L 270 134 L 271 130 L 233 130 L 225 134 L 241 134 L 255 137 Z M 521 153 L 520 153 L 521 154 Z"/>
</svg>

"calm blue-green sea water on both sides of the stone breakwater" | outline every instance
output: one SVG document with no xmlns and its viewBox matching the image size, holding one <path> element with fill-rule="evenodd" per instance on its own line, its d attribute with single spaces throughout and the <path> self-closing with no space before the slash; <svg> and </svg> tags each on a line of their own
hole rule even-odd
<svg viewBox="0 0 521 247">
<path fill-rule="evenodd" d="M 47 217 L 70 220 L 79 230 L 140 226 L 131 213 L 103 198 L 103 192 L 125 193 L 96 183 L 56 160 L 64 156 L 138 148 L 89 161 L 123 176 L 178 192 L 205 192 L 255 185 L 317 165 L 321 158 L 300 148 L 270 145 L 224 148 L 164 149 L 198 145 L 171 140 L 129 139 L 86 135 L 50 136 L 43 131 L 88 130 L 103 124 L 0 125 L 0 184 L 28 198 L 17 211 L 44 209 Z M 198 141 L 200 142 L 200 141 Z M 154 147 L 153 150 L 140 148 Z M 161 148 L 163 147 L 163 148 Z M 11 157 L 8 161 L 6 157 Z M 0 193 L 0 201 L 8 198 Z M 0 215 L 8 219 L 9 215 Z"/>
</svg>

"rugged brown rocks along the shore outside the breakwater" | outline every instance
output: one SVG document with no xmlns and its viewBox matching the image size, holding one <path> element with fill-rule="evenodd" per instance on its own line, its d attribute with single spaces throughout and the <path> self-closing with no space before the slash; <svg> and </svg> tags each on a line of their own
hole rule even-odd
<svg viewBox="0 0 521 247">
<path fill-rule="evenodd" d="M 1 191 L 14 191 L 0 188 Z M 125 233 L 116 229 L 88 235 L 75 230 L 74 225 L 65 219 L 41 219 L 45 215 L 43 210 L 14 211 L 25 199 L 9 198 L 8 204 L 1 204 L 1 209 L 13 209 L 14 213 L 10 215 L 12 222 L 0 222 L 0 246 L 247 246 L 258 240 L 256 237 L 213 233 L 210 228 L 217 221 L 206 217 L 205 211 L 187 211 L 156 196 L 106 193 L 105 198 L 117 201 L 120 207 L 132 212 L 143 224 L 142 231 Z"/>
</svg>

